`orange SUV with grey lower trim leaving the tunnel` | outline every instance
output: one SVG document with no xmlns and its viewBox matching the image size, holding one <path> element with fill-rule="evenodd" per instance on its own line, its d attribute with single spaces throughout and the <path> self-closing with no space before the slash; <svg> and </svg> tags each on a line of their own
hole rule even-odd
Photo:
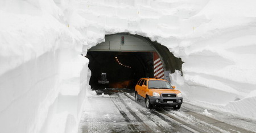
<svg viewBox="0 0 256 133">
<path fill-rule="evenodd" d="M 135 101 L 144 99 L 146 107 L 171 106 L 175 110 L 180 109 L 183 97 L 175 86 L 168 81 L 158 78 L 141 78 L 135 86 Z"/>
</svg>

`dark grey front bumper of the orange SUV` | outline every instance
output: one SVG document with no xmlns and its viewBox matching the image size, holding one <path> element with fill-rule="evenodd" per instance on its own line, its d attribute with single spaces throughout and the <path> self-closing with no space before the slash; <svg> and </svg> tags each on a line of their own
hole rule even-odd
<svg viewBox="0 0 256 133">
<path fill-rule="evenodd" d="M 176 106 L 183 103 L 183 97 L 154 97 L 148 96 L 150 103 L 156 106 Z"/>
</svg>

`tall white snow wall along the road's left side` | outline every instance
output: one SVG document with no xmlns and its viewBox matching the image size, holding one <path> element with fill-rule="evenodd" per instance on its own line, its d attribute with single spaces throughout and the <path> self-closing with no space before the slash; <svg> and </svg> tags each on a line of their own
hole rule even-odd
<svg viewBox="0 0 256 133">
<path fill-rule="evenodd" d="M 0 132 L 78 130 L 89 60 L 60 3 L 0 2 Z"/>
</svg>

